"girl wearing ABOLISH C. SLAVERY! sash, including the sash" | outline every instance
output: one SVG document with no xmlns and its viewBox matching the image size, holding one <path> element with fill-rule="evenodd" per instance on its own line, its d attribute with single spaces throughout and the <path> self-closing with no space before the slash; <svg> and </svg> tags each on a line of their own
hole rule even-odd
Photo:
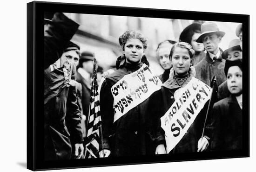
<svg viewBox="0 0 256 172">
<path fill-rule="evenodd" d="M 155 133 L 165 137 L 167 153 L 201 152 L 209 145 L 209 130 L 201 135 L 211 88 L 194 77 L 194 55 L 188 43 L 175 43 L 169 55 L 170 77 L 150 97 L 153 108 L 148 113 L 159 115 Z"/>
</svg>

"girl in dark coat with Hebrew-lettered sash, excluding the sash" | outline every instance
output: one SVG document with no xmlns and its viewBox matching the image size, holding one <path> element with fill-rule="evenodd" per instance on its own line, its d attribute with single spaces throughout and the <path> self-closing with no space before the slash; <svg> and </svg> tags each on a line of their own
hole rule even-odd
<svg viewBox="0 0 256 172">
<path fill-rule="evenodd" d="M 101 86 L 100 100 L 104 151 L 101 150 L 100 156 L 102 156 L 102 152 L 104 152 L 104 157 L 109 155 L 118 157 L 155 154 L 153 140 L 156 141 L 157 139 L 153 139 L 152 134 L 150 134 L 150 122 L 154 120 L 150 119 L 145 112 L 148 107 L 147 99 L 114 121 L 115 110 L 113 108 L 112 86 L 122 77 L 139 70 L 142 64 L 149 65 L 144 55 L 147 48 L 147 39 L 143 37 L 141 32 L 135 30 L 124 32 L 119 38 L 119 44 L 123 50 L 123 55 L 117 58 L 117 70 L 108 75 Z"/>
</svg>

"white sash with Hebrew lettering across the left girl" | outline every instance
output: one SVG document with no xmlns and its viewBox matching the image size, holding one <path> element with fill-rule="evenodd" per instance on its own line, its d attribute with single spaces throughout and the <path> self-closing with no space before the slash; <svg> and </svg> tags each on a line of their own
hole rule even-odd
<svg viewBox="0 0 256 172">
<path fill-rule="evenodd" d="M 161 89 L 161 85 L 161 80 L 146 64 L 143 64 L 139 70 L 123 76 L 111 87 L 115 111 L 113 122 Z"/>
</svg>

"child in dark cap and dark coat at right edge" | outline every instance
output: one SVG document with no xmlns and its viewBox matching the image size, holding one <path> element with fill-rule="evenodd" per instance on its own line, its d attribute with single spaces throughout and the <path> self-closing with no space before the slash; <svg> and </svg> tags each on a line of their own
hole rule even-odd
<svg viewBox="0 0 256 172">
<path fill-rule="evenodd" d="M 230 96 L 214 104 L 212 118 L 212 151 L 239 150 L 243 148 L 242 108 L 243 108 L 243 68 L 242 59 L 226 60 Z"/>
</svg>

